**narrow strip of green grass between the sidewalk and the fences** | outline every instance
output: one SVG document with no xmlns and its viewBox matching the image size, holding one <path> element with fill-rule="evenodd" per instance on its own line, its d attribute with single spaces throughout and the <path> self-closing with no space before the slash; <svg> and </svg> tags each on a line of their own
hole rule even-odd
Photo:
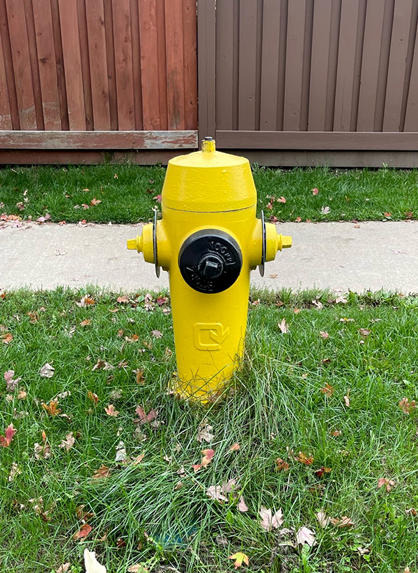
<svg viewBox="0 0 418 573">
<path fill-rule="evenodd" d="M 153 208 L 159 206 L 154 198 L 161 193 L 165 172 L 162 166 L 133 165 L 2 168 L 0 214 L 36 219 L 48 213 L 52 221 L 68 223 L 82 219 L 97 223 L 148 221 Z M 298 217 L 302 221 L 402 220 L 418 216 L 417 171 L 286 171 L 254 166 L 253 173 L 258 211 L 264 209 L 268 217 L 279 221 Z M 316 196 L 312 194 L 314 188 L 319 191 Z M 270 198 L 281 196 L 286 203 L 274 201 L 269 210 Z M 92 206 L 93 199 L 101 203 Z M 323 207 L 330 207 L 330 212 L 323 214 Z"/>
</svg>

